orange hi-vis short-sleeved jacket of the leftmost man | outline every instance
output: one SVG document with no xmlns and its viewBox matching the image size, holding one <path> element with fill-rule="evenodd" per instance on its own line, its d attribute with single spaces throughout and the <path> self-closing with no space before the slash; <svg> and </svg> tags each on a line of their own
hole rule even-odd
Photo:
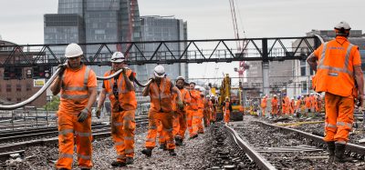
<svg viewBox="0 0 365 170">
<path fill-rule="evenodd" d="M 78 70 L 66 68 L 62 76 L 59 110 L 78 114 L 88 105 L 88 87 L 96 86 L 96 75 L 88 66 L 82 65 Z"/>
</svg>

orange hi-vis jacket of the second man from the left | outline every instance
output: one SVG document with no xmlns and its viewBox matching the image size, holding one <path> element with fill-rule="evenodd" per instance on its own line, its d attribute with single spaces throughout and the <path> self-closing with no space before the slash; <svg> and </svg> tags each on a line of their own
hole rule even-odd
<svg viewBox="0 0 365 170">
<path fill-rule="evenodd" d="M 109 76 L 114 74 L 114 71 L 109 71 L 105 73 L 104 76 Z M 132 71 L 129 69 L 126 72 L 127 77 L 130 77 Z M 120 103 L 120 107 L 123 110 L 135 110 L 137 109 L 137 100 L 136 100 L 136 93 L 134 90 L 129 91 L 126 87 L 126 80 L 124 80 L 124 76 L 120 74 L 118 77 L 118 92 L 119 92 L 119 99 L 115 98 L 113 95 L 113 85 L 115 83 L 114 78 L 110 78 L 109 80 L 104 80 L 105 90 L 109 95 L 111 105 L 115 105 L 116 102 Z"/>
</svg>

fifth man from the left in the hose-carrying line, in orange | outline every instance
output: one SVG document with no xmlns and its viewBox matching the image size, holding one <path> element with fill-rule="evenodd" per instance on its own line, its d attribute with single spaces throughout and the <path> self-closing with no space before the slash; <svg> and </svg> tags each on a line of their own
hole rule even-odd
<svg viewBox="0 0 365 170">
<path fill-rule="evenodd" d="M 193 139 L 198 136 L 198 100 L 200 98 L 200 92 L 195 90 L 195 83 L 191 82 L 189 87 L 189 95 L 191 96 L 190 105 L 187 109 L 186 122 L 188 125 L 190 138 Z"/>
</svg>

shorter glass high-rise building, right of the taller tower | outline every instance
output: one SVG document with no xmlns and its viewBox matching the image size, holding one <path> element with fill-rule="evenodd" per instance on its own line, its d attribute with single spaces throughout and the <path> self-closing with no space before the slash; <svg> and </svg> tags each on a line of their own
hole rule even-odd
<svg viewBox="0 0 365 170">
<path fill-rule="evenodd" d="M 173 16 L 141 16 L 141 37 L 142 41 L 169 41 L 169 40 L 186 40 L 187 23 L 182 19 L 176 19 Z M 144 45 L 145 52 L 152 52 L 157 49 L 159 44 Z M 186 43 L 169 43 L 167 44 L 172 54 L 179 56 L 183 54 Z M 161 51 L 167 51 L 165 46 L 160 47 Z M 156 57 L 164 57 L 165 54 L 157 54 Z M 138 65 L 138 79 L 147 80 L 153 74 L 153 68 L 156 65 Z M 188 78 L 187 64 L 163 65 L 166 74 L 175 79 L 182 75 Z"/>
</svg>

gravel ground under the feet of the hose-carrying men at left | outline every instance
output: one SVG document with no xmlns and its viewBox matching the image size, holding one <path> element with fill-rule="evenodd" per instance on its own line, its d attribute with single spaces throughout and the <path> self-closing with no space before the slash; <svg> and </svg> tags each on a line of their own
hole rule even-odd
<svg viewBox="0 0 365 170">
<path fill-rule="evenodd" d="M 208 129 L 205 129 L 208 132 Z M 144 148 L 146 128 L 138 127 L 135 135 L 134 164 L 120 169 L 205 169 L 210 165 L 209 157 L 205 152 L 210 148 L 206 145 L 209 141 L 208 134 L 199 135 L 193 140 L 185 140 L 183 146 L 177 147 L 176 157 L 167 151 L 158 148 L 153 150 L 150 158 L 141 154 Z M 0 169 L 54 169 L 57 160 L 57 145 L 34 146 L 26 149 L 25 159 L 15 158 L 1 163 Z M 119 169 L 112 168 L 110 163 L 115 159 L 116 153 L 111 138 L 95 140 L 93 142 L 93 169 Z M 77 167 L 76 154 L 74 167 Z"/>
</svg>

